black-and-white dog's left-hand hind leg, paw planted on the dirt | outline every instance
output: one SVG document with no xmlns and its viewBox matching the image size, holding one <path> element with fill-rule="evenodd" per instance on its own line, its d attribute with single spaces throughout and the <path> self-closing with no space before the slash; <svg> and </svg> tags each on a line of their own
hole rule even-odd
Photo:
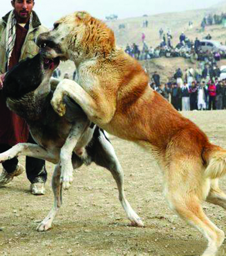
<svg viewBox="0 0 226 256">
<path fill-rule="evenodd" d="M 38 225 L 37 231 L 46 231 L 51 228 L 56 212 L 58 212 L 62 205 L 62 185 L 60 185 L 60 164 L 55 166 L 55 170 L 52 177 L 52 189 L 54 193 L 54 206 L 50 210 L 49 214 Z"/>
</svg>

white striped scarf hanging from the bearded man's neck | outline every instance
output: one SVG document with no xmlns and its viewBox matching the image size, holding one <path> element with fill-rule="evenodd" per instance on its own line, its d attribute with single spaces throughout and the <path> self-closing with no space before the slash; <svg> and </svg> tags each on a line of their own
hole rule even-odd
<svg viewBox="0 0 226 256">
<path fill-rule="evenodd" d="M 29 20 L 29 26 L 32 24 L 32 13 Z M 12 54 L 12 50 L 14 49 L 15 41 L 16 41 L 16 18 L 14 14 L 14 10 L 10 12 L 8 16 L 8 21 L 6 24 L 6 59 L 7 59 L 7 70 L 8 65 L 10 63 L 10 57 Z"/>
</svg>

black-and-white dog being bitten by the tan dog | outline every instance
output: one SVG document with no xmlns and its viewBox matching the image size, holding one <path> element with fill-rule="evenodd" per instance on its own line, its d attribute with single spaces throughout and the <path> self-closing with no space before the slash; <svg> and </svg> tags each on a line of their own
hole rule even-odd
<svg viewBox="0 0 226 256">
<path fill-rule="evenodd" d="M 86 128 L 89 123 L 87 116 L 75 102 L 64 97 L 67 106 L 66 115 L 60 117 L 50 104 L 53 91 L 50 88 L 50 77 L 54 68 L 58 66 L 59 59 L 48 60 L 40 54 L 32 59 L 20 62 L 12 68 L 5 77 L 3 93 L 7 106 L 16 114 L 23 117 L 29 125 L 29 129 L 35 144 L 17 144 L 5 153 L 0 154 L 0 162 L 19 155 L 28 155 L 48 160 L 56 164 L 52 187 L 54 192 L 54 206 L 47 217 L 38 225 L 38 231 L 46 231 L 51 227 L 54 216 L 62 204 L 62 183 L 60 182 L 61 168 L 79 168 L 83 163 L 94 162 L 107 168 L 112 173 L 119 190 L 119 200 L 132 225 L 142 227 L 143 223 L 136 212 L 133 211 L 124 195 L 123 170 L 116 157 L 114 148 L 98 127 Z M 57 80 L 53 80 L 56 86 Z M 81 127 L 83 127 L 81 129 Z M 86 159 L 77 156 L 73 149 L 74 138 L 77 131 L 94 129 L 94 133 L 88 145 L 85 145 Z M 83 140 L 84 141 L 84 140 Z M 77 142 L 77 139 L 76 139 Z M 74 153 L 72 154 L 72 152 Z M 62 154 L 64 162 L 62 161 Z"/>
</svg>

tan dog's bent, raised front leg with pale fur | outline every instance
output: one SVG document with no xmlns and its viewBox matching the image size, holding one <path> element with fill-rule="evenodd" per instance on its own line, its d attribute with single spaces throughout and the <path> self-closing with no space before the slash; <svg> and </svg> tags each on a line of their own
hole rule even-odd
<svg viewBox="0 0 226 256">
<path fill-rule="evenodd" d="M 51 105 L 58 115 L 63 116 L 66 113 L 66 105 L 63 102 L 63 97 L 68 96 L 79 104 L 89 120 L 101 126 L 110 122 L 114 116 L 115 107 L 112 106 L 109 99 L 105 99 L 103 93 L 95 90 L 95 85 L 90 85 L 93 89 L 93 96 L 90 96 L 79 84 L 75 81 L 64 79 L 61 81 L 53 94 Z M 98 102 L 98 104 L 97 104 Z"/>
</svg>

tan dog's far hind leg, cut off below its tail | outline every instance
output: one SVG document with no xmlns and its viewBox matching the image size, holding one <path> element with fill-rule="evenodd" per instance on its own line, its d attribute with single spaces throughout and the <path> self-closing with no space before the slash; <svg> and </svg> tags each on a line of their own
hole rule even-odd
<svg viewBox="0 0 226 256">
<path fill-rule="evenodd" d="M 226 194 L 219 188 L 218 179 L 211 180 L 210 193 L 206 201 L 219 205 L 226 210 Z"/>
</svg>

